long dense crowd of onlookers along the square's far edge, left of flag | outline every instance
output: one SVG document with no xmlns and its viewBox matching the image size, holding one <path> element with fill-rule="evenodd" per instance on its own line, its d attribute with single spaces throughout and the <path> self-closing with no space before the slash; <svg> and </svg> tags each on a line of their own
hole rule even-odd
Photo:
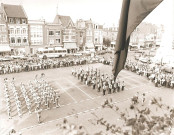
<svg viewBox="0 0 174 135">
<path fill-rule="evenodd" d="M 0 63 L 0 75 L 1 74 L 10 74 L 10 73 L 19 73 L 19 72 L 28 72 L 35 70 L 45 70 L 51 68 L 60 68 L 68 66 L 83 65 L 87 63 L 96 62 L 91 57 L 83 58 L 65 58 L 62 60 L 59 59 L 40 59 L 33 58 L 28 60 L 17 60 L 10 62 Z M 98 59 L 97 59 L 98 62 Z"/>
</svg>

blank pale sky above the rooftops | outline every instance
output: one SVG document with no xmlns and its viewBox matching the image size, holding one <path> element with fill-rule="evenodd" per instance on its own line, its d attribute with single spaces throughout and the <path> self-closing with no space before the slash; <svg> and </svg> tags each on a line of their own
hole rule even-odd
<svg viewBox="0 0 174 135">
<path fill-rule="evenodd" d="M 168 23 L 174 13 L 171 10 L 171 1 L 174 0 L 164 0 L 145 21 L 164 25 Z M 80 18 L 91 18 L 106 27 L 118 24 L 122 5 L 122 0 L 0 0 L 0 2 L 22 4 L 30 20 L 44 18 L 47 22 L 52 22 L 58 5 L 58 13 L 71 16 L 74 22 Z"/>
</svg>

